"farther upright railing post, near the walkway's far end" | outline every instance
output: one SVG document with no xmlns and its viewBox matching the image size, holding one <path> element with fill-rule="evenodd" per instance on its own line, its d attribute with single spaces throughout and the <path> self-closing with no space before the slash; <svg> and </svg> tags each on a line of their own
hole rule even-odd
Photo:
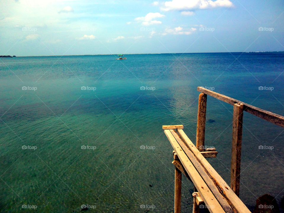
<svg viewBox="0 0 284 213">
<path fill-rule="evenodd" d="M 200 93 L 199 102 L 198 102 L 197 129 L 196 129 L 196 148 L 199 151 L 204 151 L 206 106 L 207 106 L 207 95 L 204 93 Z"/>
</svg>

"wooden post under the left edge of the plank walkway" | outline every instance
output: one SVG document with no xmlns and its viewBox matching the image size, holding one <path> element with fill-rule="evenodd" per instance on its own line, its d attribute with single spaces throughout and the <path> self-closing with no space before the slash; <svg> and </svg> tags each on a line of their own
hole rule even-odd
<svg viewBox="0 0 284 213">
<path fill-rule="evenodd" d="M 178 155 L 174 154 L 174 159 L 178 160 Z M 175 167 L 175 213 L 180 213 L 181 211 L 181 171 Z"/>
</svg>

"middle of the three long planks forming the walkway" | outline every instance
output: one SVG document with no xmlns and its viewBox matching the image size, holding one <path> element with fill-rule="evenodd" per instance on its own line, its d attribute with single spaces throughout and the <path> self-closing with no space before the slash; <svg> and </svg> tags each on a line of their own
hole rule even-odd
<svg viewBox="0 0 284 213">
<path fill-rule="evenodd" d="M 178 136 L 178 134 L 174 130 L 170 130 L 170 132 L 175 137 L 176 141 L 179 143 L 180 147 L 183 149 L 185 154 L 188 156 L 189 160 L 191 161 L 191 163 L 193 164 L 199 175 L 203 178 L 208 188 L 212 191 L 212 193 L 214 194 L 215 198 L 220 203 L 224 211 L 227 213 L 233 213 L 233 212 L 236 213 L 237 210 L 234 207 L 230 206 L 230 202 L 228 201 L 226 196 L 223 195 L 223 192 L 217 187 L 214 178 L 208 175 L 208 172 L 203 167 L 203 165 L 198 161 L 198 159 L 195 157 L 193 152 L 190 149 L 188 149 L 187 145 L 182 141 L 182 139 Z M 201 153 L 199 153 L 199 155 L 202 156 Z"/>
</svg>

